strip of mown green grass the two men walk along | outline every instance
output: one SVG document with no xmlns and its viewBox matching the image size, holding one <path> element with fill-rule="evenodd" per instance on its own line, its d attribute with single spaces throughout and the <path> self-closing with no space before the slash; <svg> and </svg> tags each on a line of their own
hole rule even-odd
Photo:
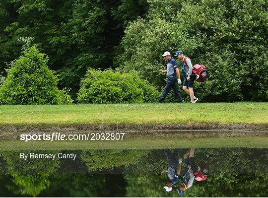
<svg viewBox="0 0 268 198">
<path fill-rule="evenodd" d="M 267 124 L 268 103 L 0 106 L 0 124 Z"/>
</svg>

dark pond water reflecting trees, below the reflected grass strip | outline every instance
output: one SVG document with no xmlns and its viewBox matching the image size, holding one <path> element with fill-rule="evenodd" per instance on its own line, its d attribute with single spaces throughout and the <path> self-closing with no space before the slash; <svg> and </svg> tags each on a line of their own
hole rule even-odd
<svg viewBox="0 0 268 198">
<path fill-rule="evenodd" d="M 180 158 L 188 149 L 178 150 Z M 34 159 L 30 153 L 55 158 Z M 267 159 L 267 148 L 196 148 L 195 162 L 207 164 L 209 174 L 185 196 L 268 197 Z M 171 192 L 163 188 L 169 179 L 160 171 L 168 164 L 163 149 L 0 151 L 0 196 L 179 197 L 181 176 Z M 183 162 L 181 175 L 184 167 Z"/>
</svg>

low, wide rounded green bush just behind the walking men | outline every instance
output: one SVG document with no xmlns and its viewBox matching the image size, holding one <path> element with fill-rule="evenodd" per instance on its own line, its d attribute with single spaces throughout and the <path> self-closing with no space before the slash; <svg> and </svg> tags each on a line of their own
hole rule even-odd
<svg viewBox="0 0 268 198">
<path fill-rule="evenodd" d="M 111 69 L 100 71 L 89 68 L 81 80 L 79 103 L 143 103 L 155 102 L 156 89 L 140 79 L 137 72 L 120 73 Z"/>
</svg>

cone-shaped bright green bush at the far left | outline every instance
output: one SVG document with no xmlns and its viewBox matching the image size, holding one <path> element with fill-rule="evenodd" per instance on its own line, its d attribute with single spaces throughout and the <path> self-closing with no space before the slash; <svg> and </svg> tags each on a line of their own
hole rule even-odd
<svg viewBox="0 0 268 198">
<path fill-rule="evenodd" d="M 32 46 L 11 62 L 0 86 L 0 101 L 9 105 L 70 104 L 66 91 L 57 87 L 58 78 L 47 66 L 48 57 Z"/>
</svg>

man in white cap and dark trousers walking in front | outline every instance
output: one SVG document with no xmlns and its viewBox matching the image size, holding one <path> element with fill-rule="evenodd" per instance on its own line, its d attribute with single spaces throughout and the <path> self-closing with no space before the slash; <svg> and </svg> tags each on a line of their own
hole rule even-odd
<svg viewBox="0 0 268 198">
<path fill-rule="evenodd" d="M 159 98 L 157 103 L 163 102 L 163 100 L 168 95 L 171 88 L 173 89 L 175 95 L 177 96 L 178 101 L 182 103 L 182 96 L 177 86 L 177 82 L 179 84 L 182 83 L 180 79 L 180 71 L 178 68 L 178 64 L 174 59 L 171 58 L 171 55 L 169 52 L 165 52 L 162 56 L 165 57 L 165 60 L 168 62 L 168 64 L 167 64 L 167 69 L 166 70 L 160 69 L 160 72 L 167 73 L 168 81 L 163 91 L 163 94 Z"/>
</svg>

